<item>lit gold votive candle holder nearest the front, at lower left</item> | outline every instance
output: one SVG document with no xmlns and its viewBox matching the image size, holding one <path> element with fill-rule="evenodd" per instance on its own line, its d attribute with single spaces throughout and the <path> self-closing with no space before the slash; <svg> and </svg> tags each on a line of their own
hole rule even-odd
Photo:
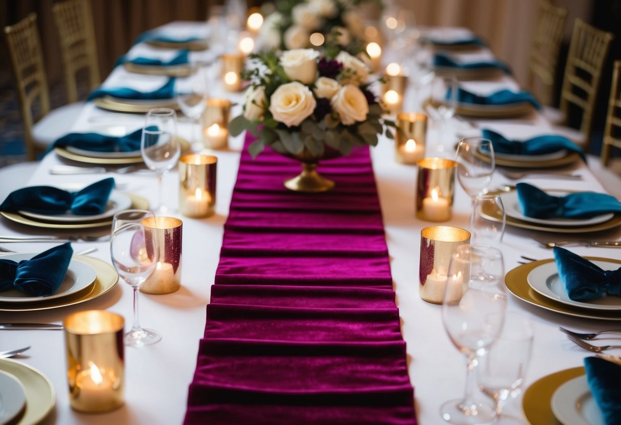
<svg viewBox="0 0 621 425">
<path fill-rule="evenodd" d="M 104 310 L 86 310 L 65 318 L 71 408 L 103 413 L 123 405 L 124 324 L 123 317 Z"/>
</svg>

